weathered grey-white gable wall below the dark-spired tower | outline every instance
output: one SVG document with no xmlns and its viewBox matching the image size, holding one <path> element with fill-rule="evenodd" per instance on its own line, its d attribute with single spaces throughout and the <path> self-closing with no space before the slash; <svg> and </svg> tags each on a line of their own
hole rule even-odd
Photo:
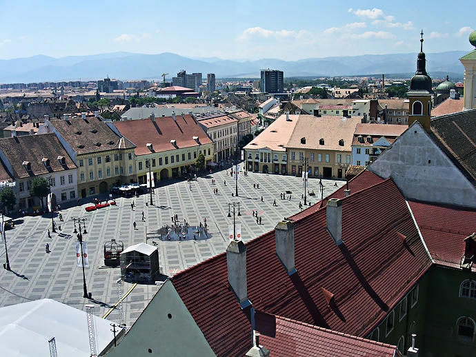
<svg viewBox="0 0 476 357">
<path fill-rule="evenodd" d="M 476 188 L 417 121 L 368 170 L 391 177 L 406 198 L 476 207 Z"/>
</svg>

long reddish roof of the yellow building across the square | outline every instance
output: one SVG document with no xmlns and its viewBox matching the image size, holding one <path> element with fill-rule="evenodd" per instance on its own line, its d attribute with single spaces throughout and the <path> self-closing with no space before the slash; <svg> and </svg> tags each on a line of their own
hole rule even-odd
<svg viewBox="0 0 476 357">
<path fill-rule="evenodd" d="M 179 148 L 198 147 L 199 144 L 193 136 L 199 137 L 201 145 L 212 143 L 190 114 L 176 115 L 175 121 L 172 116 L 163 116 L 156 118 L 155 121 L 150 119 L 117 121 L 114 125 L 121 135 L 136 145 L 136 155 L 149 154 L 150 150 L 146 147 L 148 143 L 152 144 L 155 152 L 175 150 L 170 140 L 175 140 Z"/>
</svg>

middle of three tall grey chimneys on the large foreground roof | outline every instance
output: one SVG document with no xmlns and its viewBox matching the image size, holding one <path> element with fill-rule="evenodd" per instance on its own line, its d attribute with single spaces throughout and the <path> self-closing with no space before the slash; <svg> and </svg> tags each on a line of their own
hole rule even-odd
<svg viewBox="0 0 476 357">
<path fill-rule="evenodd" d="M 294 254 L 294 225 L 291 221 L 281 221 L 275 227 L 276 255 L 288 275 L 297 272 Z"/>
</svg>

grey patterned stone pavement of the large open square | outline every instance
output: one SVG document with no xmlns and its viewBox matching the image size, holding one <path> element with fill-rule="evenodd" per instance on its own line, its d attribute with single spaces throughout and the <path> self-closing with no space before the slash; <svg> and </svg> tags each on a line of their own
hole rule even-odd
<svg viewBox="0 0 476 357">
<path fill-rule="evenodd" d="M 148 194 L 137 198 L 120 197 L 116 200 L 117 206 L 94 212 L 84 210 L 91 204 L 92 198 L 88 198 L 88 202 L 75 202 L 70 207 L 62 205 L 63 222 L 59 221 L 56 214 L 54 218 L 57 225 L 61 225 L 61 230 L 51 233 L 52 238 L 48 238 L 48 228 L 52 225 L 50 214 L 15 218 L 15 228 L 6 232 L 11 271 L 0 270 L 0 307 L 41 298 L 51 298 L 78 309 L 84 309 L 84 305 L 93 303 L 97 316 L 107 316 L 109 320 L 120 323 L 120 311 L 113 309 L 118 302 L 117 279 L 120 277 L 120 269 L 104 267 L 104 243 L 114 238 L 122 241 L 126 248 L 136 243 L 155 242 L 163 274 L 172 276 L 225 251 L 228 245 L 228 224 L 233 222 L 233 215 L 228 217 L 228 203 L 239 203 L 241 216 L 235 215 L 235 220 L 236 223 L 241 223 L 244 241 L 272 230 L 284 217 L 299 212 L 299 201 L 304 203 L 301 199 L 304 187 L 298 177 L 241 174 L 238 181 L 239 196 L 235 196 L 235 181 L 229 176 L 229 171 L 228 169 L 227 173 L 226 170 L 221 170 L 199 176 L 190 185 L 186 181 L 161 182 L 152 195 L 154 205 L 148 204 Z M 215 185 L 212 185 L 212 179 L 215 179 Z M 322 183 L 324 196 L 327 196 L 344 185 L 345 181 L 322 180 Z M 254 185 L 258 184 L 259 188 L 255 188 Z M 318 194 L 319 179 L 309 179 L 306 188 Z M 218 189 L 218 194 L 213 192 L 215 189 Z M 289 194 L 286 195 L 286 200 L 279 196 L 286 191 L 292 192 L 290 201 Z M 105 200 L 106 196 L 99 198 Z M 273 205 L 275 199 L 277 205 Z M 130 207 L 132 200 L 135 203 L 134 210 Z M 308 196 L 307 201 L 314 204 L 317 196 Z M 257 224 L 252 211 L 258 212 L 261 225 Z M 237 213 L 237 209 L 235 212 Z M 175 214 L 181 222 L 185 218 L 190 226 L 199 226 L 206 218 L 208 237 L 197 235 L 197 241 L 162 241 L 158 231 L 160 227 L 170 225 L 171 216 Z M 88 243 L 90 263 L 90 267 L 86 268 L 86 285 L 88 292 L 92 294 L 92 300 L 83 298 L 83 275 L 81 267 L 76 266 L 77 238 L 73 233 L 72 218 L 86 218 L 88 233 L 83 234 L 83 240 Z M 134 222 L 137 223 L 137 229 L 133 227 Z M 49 254 L 45 250 L 46 243 L 50 245 Z M 2 263 L 6 260 L 3 244 L 0 259 Z M 126 282 L 121 284 L 124 296 L 123 321 L 130 326 L 159 287 Z"/>
</svg>

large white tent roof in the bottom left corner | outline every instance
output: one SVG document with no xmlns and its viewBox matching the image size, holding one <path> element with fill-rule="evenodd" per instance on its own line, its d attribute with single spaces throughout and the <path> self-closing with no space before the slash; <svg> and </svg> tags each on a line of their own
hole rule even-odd
<svg viewBox="0 0 476 357">
<path fill-rule="evenodd" d="M 114 339 L 112 321 L 94 315 L 93 320 L 99 354 Z M 1 356 L 50 357 L 48 340 L 53 336 L 58 356 L 90 356 L 86 311 L 48 298 L 1 307 Z"/>
</svg>

